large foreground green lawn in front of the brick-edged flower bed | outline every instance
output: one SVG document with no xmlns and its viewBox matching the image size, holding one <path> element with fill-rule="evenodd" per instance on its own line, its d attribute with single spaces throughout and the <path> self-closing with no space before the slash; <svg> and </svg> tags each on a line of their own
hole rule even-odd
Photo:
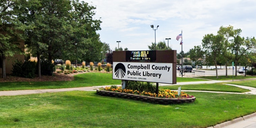
<svg viewBox="0 0 256 128">
<path fill-rule="evenodd" d="M 191 104 L 160 105 L 71 91 L 0 97 L 6 128 L 205 128 L 256 112 L 256 95 L 197 93 Z"/>
</svg>

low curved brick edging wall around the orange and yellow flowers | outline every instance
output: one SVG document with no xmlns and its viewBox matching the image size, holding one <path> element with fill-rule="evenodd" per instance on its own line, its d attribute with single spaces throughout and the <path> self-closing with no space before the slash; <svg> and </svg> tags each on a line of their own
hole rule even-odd
<svg viewBox="0 0 256 128">
<path fill-rule="evenodd" d="M 140 95 L 134 95 L 134 94 L 127 94 L 127 93 L 103 91 L 103 90 L 99 90 L 99 89 L 97 89 L 96 94 L 101 95 L 101 96 L 111 96 L 111 97 L 120 97 L 120 98 L 141 100 L 141 101 L 158 103 L 158 104 L 193 103 L 196 100 L 196 97 L 188 98 L 188 99 L 156 98 L 156 97 L 140 96 Z"/>
</svg>

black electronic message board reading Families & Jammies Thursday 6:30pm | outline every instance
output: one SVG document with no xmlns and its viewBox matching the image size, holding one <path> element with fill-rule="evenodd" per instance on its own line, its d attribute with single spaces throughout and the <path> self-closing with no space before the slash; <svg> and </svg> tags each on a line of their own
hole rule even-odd
<svg viewBox="0 0 256 128">
<path fill-rule="evenodd" d="M 126 61 L 156 60 L 156 51 L 126 51 Z"/>
</svg>

